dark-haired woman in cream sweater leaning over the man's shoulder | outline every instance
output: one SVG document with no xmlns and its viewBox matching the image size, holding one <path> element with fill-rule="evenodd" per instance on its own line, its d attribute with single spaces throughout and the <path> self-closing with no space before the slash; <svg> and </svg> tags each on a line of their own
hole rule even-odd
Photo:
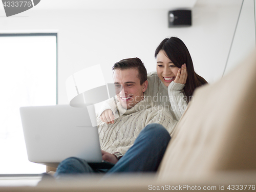
<svg viewBox="0 0 256 192">
<path fill-rule="evenodd" d="M 207 81 L 196 74 L 187 47 L 177 37 L 165 38 L 157 47 L 155 58 L 157 71 L 148 73 L 148 88 L 144 96 L 152 106 L 164 106 L 179 120 L 195 89 Z M 114 105 L 108 102 L 99 112 L 100 119 L 114 123 Z"/>
</svg>

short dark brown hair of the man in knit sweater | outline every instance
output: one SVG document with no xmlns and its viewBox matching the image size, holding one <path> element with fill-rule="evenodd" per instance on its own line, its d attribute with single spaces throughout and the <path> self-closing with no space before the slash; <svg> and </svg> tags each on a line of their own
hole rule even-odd
<svg viewBox="0 0 256 192">
<path fill-rule="evenodd" d="M 140 85 L 147 80 L 146 68 L 144 63 L 138 57 L 122 59 L 119 62 L 116 62 L 112 67 L 112 70 L 116 69 L 137 69 L 139 72 L 138 78 L 140 79 Z"/>
</svg>

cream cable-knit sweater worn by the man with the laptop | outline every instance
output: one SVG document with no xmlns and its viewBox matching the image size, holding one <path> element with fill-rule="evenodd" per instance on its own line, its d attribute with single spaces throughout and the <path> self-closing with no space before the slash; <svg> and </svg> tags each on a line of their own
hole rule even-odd
<svg viewBox="0 0 256 192">
<path fill-rule="evenodd" d="M 141 130 L 151 123 L 162 124 L 169 134 L 174 131 L 177 120 L 167 110 L 152 107 L 146 98 L 129 110 L 122 108 L 120 103 L 117 105 L 123 115 L 115 119 L 114 124 L 103 123 L 97 118 L 101 150 L 125 154 Z"/>
</svg>

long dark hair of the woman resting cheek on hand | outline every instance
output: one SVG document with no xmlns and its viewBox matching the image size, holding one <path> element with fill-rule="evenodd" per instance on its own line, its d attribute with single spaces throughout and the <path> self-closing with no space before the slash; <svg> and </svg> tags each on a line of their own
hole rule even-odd
<svg viewBox="0 0 256 192">
<path fill-rule="evenodd" d="M 193 95 L 197 87 L 207 83 L 207 81 L 196 74 L 194 71 L 193 61 L 184 42 L 178 37 L 165 38 L 155 51 L 155 58 L 160 50 L 166 53 L 166 56 L 174 63 L 175 66 L 181 68 L 186 63 L 187 80 L 184 87 L 185 95 L 189 98 Z"/>
</svg>

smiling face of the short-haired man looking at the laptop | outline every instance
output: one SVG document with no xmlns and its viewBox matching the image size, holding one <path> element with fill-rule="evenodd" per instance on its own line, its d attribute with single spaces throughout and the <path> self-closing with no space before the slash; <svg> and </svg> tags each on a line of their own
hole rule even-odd
<svg viewBox="0 0 256 192">
<path fill-rule="evenodd" d="M 131 109 L 135 104 L 144 99 L 147 81 L 140 84 L 137 69 L 116 69 L 113 74 L 116 94 L 122 107 Z"/>
</svg>

